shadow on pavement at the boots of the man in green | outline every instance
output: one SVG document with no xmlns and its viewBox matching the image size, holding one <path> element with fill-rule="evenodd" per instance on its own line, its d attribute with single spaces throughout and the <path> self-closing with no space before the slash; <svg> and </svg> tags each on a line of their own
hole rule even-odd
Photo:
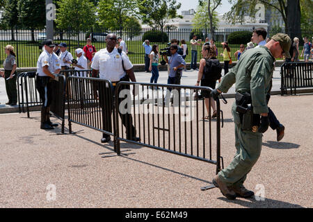
<svg viewBox="0 0 313 222">
<path fill-rule="evenodd" d="M 249 208 L 305 208 L 297 204 L 287 203 L 280 200 L 272 200 L 268 198 L 264 198 L 264 200 L 255 200 L 255 197 L 247 199 L 236 198 L 236 200 L 228 200 L 225 197 L 219 197 L 218 199 L 224 200 L 225 202 L 228 203 L 237 204 Z"/>
</svg>

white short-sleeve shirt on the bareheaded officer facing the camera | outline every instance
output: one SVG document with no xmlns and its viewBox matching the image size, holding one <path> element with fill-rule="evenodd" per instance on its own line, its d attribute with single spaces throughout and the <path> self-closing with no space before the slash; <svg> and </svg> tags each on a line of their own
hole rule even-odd
<svg viewBox="0 0 313 222">
<path fill-rule="evenodd" d="M 114 48 L 111 53 L 106 49 L 102 49 L 95 53 L 91 68 L 99 70 L 99 78 L 117 82 L 126 74 L 122 67 L 122 60 L 124 61 L 125 70 L 129 70 L 133 67 L 124 51 L 122 51 L 122 56 L 120 56 L 116 48 Z"/>
</svg>

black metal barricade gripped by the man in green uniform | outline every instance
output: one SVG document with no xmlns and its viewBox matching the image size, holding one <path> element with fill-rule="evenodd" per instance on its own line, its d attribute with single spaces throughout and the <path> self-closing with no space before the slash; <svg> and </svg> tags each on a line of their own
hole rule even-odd
<svg viewBox="0 0 313 222">
<path fill-rule="evenodd" d="M 118 155 L 120 142 L 131 142 L 216 164 L 218 173 L 220 160 L 223 162 L 223 157 L 220 157 L 220 121 L 223 120 L 223 112 L 220 110 L 220 102 L 216 101 L 216 119 L 211 119 L 211 108 L 209 118 L 204 119 L 207 116 L 205 100 L 200 101 L 198 96 L 193 99 L 193 92 L 198 94 L 200 90 L 209 95 L 212 89 L 186 85 L 118 83 L 115 89 L 115 98 L 119 98 L 115 99 Z M 172 105 L 169 105 L 170 94 L 173 95 Z M 211 106 L 210 99 L 208 105 Z M 125 133 L 122 125 L 126 128 Z M 140 142 L 132 139 L 136 136 L 140 137 Z"/>
</svg>

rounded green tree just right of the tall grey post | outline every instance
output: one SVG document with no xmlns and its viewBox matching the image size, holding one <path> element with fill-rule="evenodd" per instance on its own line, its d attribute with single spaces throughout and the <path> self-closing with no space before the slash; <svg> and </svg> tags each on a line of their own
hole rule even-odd
<svg viewBox="0 0 313 222">
<path fill-rule="evenodd" d="M 96 8 L 89 0 L 60 0 L 56 9 L 56 27 L 76 33 L 86 31 L 96 21 Z"/>
</svg>

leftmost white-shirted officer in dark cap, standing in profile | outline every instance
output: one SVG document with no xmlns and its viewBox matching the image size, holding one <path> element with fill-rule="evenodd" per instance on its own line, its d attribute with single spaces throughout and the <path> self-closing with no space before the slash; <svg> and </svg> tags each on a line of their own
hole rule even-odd
<svg viewBox="0 0 313 222">
<path fill-rule="evenodd" d="M 53 130 L 53 126 L 58 126 L 49 120 L 49 106 L 52 99 L 50 80 L 58 80 L 58 75 L 54 74 L 53 71 L 60 71 L 56 69 L 59 66 L 57 66 L 58 61 L 54 58 L 54 46 L 52 40 L 47 40 L 45 50 L 42 51 L 37 62 L 36 88 L 42 100 L 40 128 L 44 130 Z"/>
</svg>

